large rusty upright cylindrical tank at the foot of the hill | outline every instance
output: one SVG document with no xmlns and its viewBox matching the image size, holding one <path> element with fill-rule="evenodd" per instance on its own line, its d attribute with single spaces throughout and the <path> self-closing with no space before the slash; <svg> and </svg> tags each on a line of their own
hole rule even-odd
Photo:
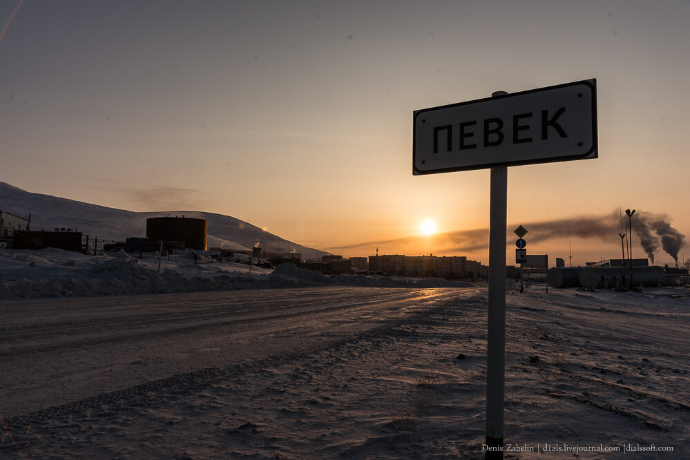
<svg viewBox="0 0 690 460">
<path fill-rule="evenodd" d="M 208 222 L 205 219 L 161 217 L 146 219 L 149 241 L 182 241 L 184 247 L 207 250 Z"/>
</svg>

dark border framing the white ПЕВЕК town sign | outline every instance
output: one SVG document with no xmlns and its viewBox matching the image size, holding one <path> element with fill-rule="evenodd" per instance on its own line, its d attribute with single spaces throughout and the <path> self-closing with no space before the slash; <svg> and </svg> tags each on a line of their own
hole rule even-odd
<svg viewBox="0 0 690 460">
<path fill-rule="evenodd" d="M 419 115 L 425 112 L 436 111 L 442 108 L 452 108 L 458 106 L 466 106 L 469 104 L 478 104 L 479 102 L 493 101 L 497 99 L 507 99 L 509 97 L 541 93 L 542 91 L 553 90 L 557 88 L 566 88 L 568 86 L 576 85 L 586 85 L 592 90 L 592 148 L 586 152 L 579 155 L 567 155 L 559 157 L 546 157 L 538 158 L 536 160 L 516 160 L 512 162 L 499 162 L 499 163 L 485 163 L 485 164 L 475 164 L 472 166 L 457 166 L 453 168 L 443 168 L 443 169 L 433 169 L 426 171 L 419 171 L 416 168 L 416 130 L 414 126 L 416 124 L 416 119 Z M 526 164 L 542 164 L 542 163 L 556 163 L 556 162 L 566 162 L 571 160 L 588 160 L 590 158 L 599 157 L 599 133 L 597 132 L 597 79 L 591 78 L 586 80 L 579 80 L 578 82 L 564 83 L 554 86 L 546 86 L 544 88 L 537 88 L 526 91 L 519 91 L 518 93 L 508 93 L 506 95 L 496 96 L 496 97 L 483 97 L 481 99 L 474 99 L 472 101 L 457 102 L 456 104 L 447 104 L 445 106 L 437 106 L 430 108 L 421 108 L 418 111 L 412 112 L 412 175 L 426 175 L 426 174 L 439 174 L 439 173 L 453 173 L 456 171 L 475 171 L 477 169 L 488 169 L 494 166 L 524 166 Z"/>
</svg>

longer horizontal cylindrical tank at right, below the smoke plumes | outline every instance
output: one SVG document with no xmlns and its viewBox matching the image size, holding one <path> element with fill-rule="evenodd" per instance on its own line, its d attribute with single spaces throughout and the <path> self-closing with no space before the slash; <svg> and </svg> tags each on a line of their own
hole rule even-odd
<svg viewBox="0 0 690 460">
<path fill-rule="evenodd" d="M 666 281 L 662 267 L 633 267 L 633 286 L 660 286 Z M 579 272 L 582 287 L 606 289 L 629 287 L 630 267 L 586 267 Z"/>
</svg>

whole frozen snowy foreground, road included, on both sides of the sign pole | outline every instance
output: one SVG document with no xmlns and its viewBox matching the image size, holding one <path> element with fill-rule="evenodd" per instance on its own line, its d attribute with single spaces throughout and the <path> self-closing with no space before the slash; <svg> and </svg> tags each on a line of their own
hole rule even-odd
<svg viewBox="0 0 690 460">
<path fill-rule="evenodd" d="M 688 458 L 687 294 L 510 287 L 506 458 Z M 482 458 L 486 303 L 481 285 L 3 300 L 0 457 Z"/>
</svg>

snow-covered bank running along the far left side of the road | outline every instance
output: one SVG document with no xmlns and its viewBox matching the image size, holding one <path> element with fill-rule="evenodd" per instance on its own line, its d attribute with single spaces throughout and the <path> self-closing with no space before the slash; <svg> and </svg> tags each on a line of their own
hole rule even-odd
<svg viewBox="0 0 690 460">
<path fill-rule="evenodd" d="M 194 261 L 194 254 L 197 262 Z M 247 260 L 249 262 L 249 260 Z M 213 251 L 180 251 L 158 258 L 86 256 L 74 251 L 46 248 L 39 251 L 0 249 L 0 298 L 82 297 L 121 294 L 151 294 L 217 289 L 259 289 L 354 285 L 372 287 L 467 286 L 437 278 L 388 276 L 324 276 L 288 265 L 272 269 L 253 267 L 220 258 Z"/>
</svg>

